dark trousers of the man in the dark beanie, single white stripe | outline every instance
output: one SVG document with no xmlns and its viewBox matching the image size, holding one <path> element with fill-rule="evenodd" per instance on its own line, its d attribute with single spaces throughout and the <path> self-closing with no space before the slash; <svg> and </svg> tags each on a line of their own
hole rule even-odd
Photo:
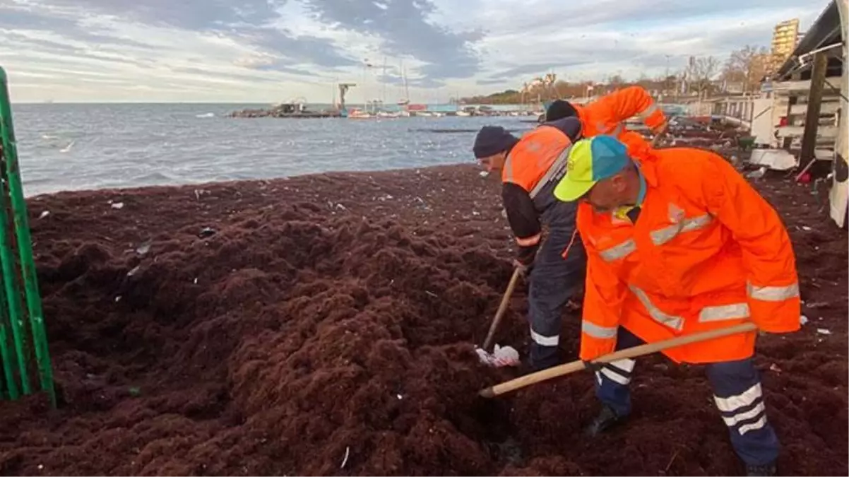
<svg viewBox="0 0 849 477">
<path fill-rule="evenodd" d="M 582 285 L 586 270 L 587 253 L 574 224 L 551 226 L 530 277 L 531 368 L 539 370 L 560 363 L 560 317 L 566 302 Z"/>
</svg>

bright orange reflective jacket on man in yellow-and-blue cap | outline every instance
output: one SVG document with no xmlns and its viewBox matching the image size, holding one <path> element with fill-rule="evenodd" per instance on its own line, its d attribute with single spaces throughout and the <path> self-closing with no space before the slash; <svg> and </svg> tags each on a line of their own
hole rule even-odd
<svg viewBox="0 0 849 477">
<path fill-rule="evenodd" d="M 751 320 L 770 333 L 800 328 L 799 284 L 778 214 L 728 162 L 689 148 L 633 154 L 647 182 L 636 224 L 578 207 L 587 249 L 581 358 L 614 351 L 616 329 L 646 342 Z M 754 353 L 756 333 L 664 351 L 675 362 Z"/>
</svg>

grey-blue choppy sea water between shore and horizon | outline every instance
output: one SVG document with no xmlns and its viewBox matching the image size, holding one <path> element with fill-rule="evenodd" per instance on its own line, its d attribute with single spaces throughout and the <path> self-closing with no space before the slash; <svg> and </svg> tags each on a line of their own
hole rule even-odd
<svg viewBox="0 0 849 477">
<path fill-rule="evenodd" d="M 520 135 L 534 116 L 231 118 L 267 104 L 13 104 L 28 197 L 474 163 L 487 124 Z"/>
</svg>

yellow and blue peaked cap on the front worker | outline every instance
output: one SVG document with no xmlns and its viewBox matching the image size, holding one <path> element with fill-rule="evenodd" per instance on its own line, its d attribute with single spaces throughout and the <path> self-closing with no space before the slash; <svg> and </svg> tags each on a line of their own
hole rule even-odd
<svg viewBox="0 0 849 477">
<path fill-rule="evenodd" d="M 615 176 L 630 161 L 627 147 L 616 137 L 582 139 L 569 152 L 566 175 L 554 187 L 554 197 L 564 202 L 581 199 L 596 182 Z"/>
</svg>

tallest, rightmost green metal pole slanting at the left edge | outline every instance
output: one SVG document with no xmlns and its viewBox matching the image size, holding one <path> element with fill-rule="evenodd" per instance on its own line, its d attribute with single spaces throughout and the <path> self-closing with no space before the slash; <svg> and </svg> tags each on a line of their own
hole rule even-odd
<svg viewBox="0 0 849 477">
<path fill-rule="evenodd" d="M 36 351 L 36 361 L 38 363 L 38 375 L 41 380 L 42 390 L 47 391 L 51 404 L 53 407 L 56 407 L 56 391 L 53 388 L 53 366 L 50 362 L 47 333 L 44 330 L 44 316 L 41 295 L 38 290 L 36 264 L 32 258 L 32 238 L 26 214 L 26 201 L 20 182 L 18 150 L 14 138 L 14 127 L 12 126 L 12 105 L 8 95 L 8 78 L 6 71 L 2 67 L 0 67 L 0 121 L 3 121 L 3 129 L 6 131 L 3 134 L 3 154 L 6 156 L 6 179 L 8 181 L 9 195 L 12 200 L 14 230 L 18 239 L 20 269 L 24 278 L 26 306 L 30 314 L 32 339 L 34 341 L 33 347 Z M 17 303 L 17 300 L 11 301 Z"/>
</svg>

